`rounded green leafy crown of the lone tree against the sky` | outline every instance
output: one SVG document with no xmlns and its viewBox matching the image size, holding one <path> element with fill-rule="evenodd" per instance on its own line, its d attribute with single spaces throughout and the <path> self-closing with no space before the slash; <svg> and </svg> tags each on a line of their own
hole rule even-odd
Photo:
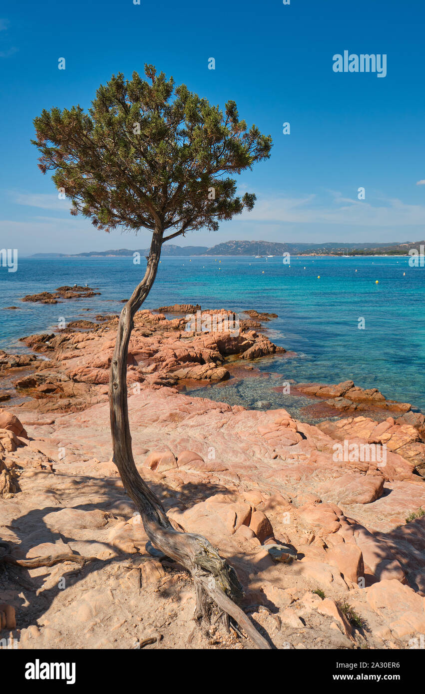
<svg viewBox="0 0 425 694">
<path fill-rule="evenodd" d="M 43 110 L 34 119 L 39 167 L 72 201 L 72 214 L 99 229 L 217 230 L 251 210 L 254 194 L 236 194 L 235 174 L 269 158 L 272 138 L 185 85 L 144 66 L 146 80 L 113 75 L 92 108 Z"/>
</svg>

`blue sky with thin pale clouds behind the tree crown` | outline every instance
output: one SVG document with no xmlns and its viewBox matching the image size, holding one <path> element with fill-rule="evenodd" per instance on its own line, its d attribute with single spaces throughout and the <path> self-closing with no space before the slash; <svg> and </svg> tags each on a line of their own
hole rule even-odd
<svg viewBox="0 0 425 694">
<path fill-rule="evenodd" d="M 42 108 L 88 108 L 100 83 L 144 62 L 213 103 L 234 99 L 274 140 L 271 158 L 238 181 L 257 194 L 253 212 L 177 243 L 424 239 L 423 0 L 24 0 L 0 18 L 0 247 L 149 244 L 144 230 L 108 235 L 71 217 L 29 142 Z M 385 53 L 387 76 L 335 73 L 344 50 Z"/>
</svg>

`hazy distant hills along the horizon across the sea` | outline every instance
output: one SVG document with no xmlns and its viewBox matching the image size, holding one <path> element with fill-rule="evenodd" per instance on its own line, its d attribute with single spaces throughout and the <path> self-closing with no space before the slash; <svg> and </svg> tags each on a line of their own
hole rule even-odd
<svg viewBox="0 0 425 694">
<path fill-rule="evenodd" d="M 383 244 L 351 244 L 340 242 L 328 242 L 325 244 L 288 243 L 279 244 L 272 241 L 227 241 L 217 244 L 212 248 L 207 246 L 174 246 L 164 244 L 161 255 L 163 256 L 188 256 L 188 255 L 407 255 L 410 248 L 418 248 L 425 245 L 425 241 L 394 242 Z M 86 253 L 35 253 L 31 257 L 119 257 L 129 256 L 133 253 L 149 255 L 149 248 L 116 248 L 110 251 L 88 251 Z"/>
</svg>

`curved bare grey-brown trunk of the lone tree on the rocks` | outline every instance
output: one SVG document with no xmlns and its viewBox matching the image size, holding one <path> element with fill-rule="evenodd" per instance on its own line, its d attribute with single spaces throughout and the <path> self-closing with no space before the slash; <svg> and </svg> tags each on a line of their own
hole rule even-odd
<svg viewBox="0 0 425 694">
<path fill-rule="evenodd" d="M 224 624 L 228 627 L 230 616 L 244 629 L 257 648 L 270 648 L 269 643 L 260 636 L 251 620 L 236 604 L 242 597 L 242 586 L 235 570 L 219 557 L 213 545 L 201 535 L 174 530 L 160 500 L 142 480 L 135 466 L 128 423 L 128 343 L 135 312 L 149 294 L 156 278 L 162 242 L 163 230 L 158 228 L 153 232 L 144 278 L 133 291 L 119 316 L 109 380 L 113 462 L 118 468 L 124 489 L 142 516 L 144 530 L 151 543 L 165 555 L 185 566 L 192 574 L 197 595 L 197 618 L 210 620 L 215 611 L 222 616 Z"/>
</svg>

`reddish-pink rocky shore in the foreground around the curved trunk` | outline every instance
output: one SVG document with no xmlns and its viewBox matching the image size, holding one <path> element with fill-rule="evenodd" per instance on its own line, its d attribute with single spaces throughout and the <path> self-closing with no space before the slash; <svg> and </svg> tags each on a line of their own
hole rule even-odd
<svg viewBox="0 0 425 694">
<path fill-rule="evenodd" d="M 285 354 L 257 332 L 275 314 L 247 312 L 238 335 L 187 332 L 183 316 L 197 311 L 135 319 L 128 409 L 140 473 L 176 527 L 204 534 L 235 567 L 245 609 L 277 648 L 411 648 L 425 632 L 424 416 L 352 381 L 295 384 L 332 413 L 319 425 L 185 394 L 229 378 L 233 363 Z M 244 648 L 238 634 L 194 628 L 188 576 L 147 549 L 110 459 L 117 317 L 96 318 L 23 338 L 32 354 L 0 354 L 0 378 L 26 398 L 0 411 L 1 540 L 24 559 L 92 557 L 20 569 L 20 584 L 0 573 L 0 638 L 134 648 L 159 633 L 150 648 Z M 372 455 L 384 448 L 385 461 Z"/>
</svg>

